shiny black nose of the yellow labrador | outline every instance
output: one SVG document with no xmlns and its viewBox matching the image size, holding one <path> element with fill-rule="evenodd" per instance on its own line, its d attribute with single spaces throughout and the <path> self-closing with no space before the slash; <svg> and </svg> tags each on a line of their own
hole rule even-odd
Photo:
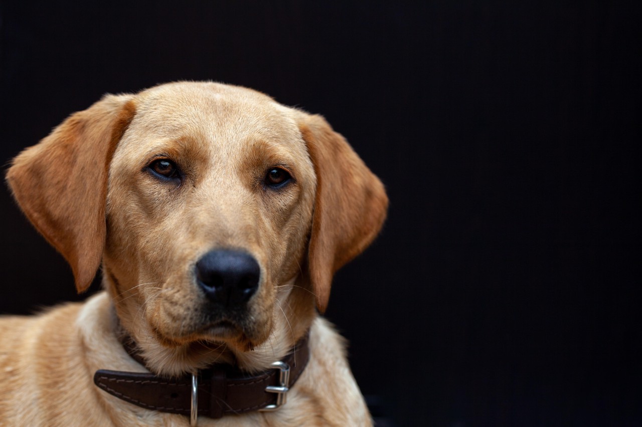
<svg viewBox="0 0 642 427">
<path fill-rule="evenodd" d="M 261 269 L 253 256 L 239 251 L 210 251 L 196 263 L 196 281 L 213 303 L 245 303 L 259 287 Z"/>
</svg>

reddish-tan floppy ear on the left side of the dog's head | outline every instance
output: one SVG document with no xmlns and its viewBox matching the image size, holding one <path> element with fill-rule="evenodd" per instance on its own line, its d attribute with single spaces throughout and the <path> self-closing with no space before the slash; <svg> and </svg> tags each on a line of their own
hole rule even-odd
<svg viewBox="0 0 642 427">
<path fill-rule="evenodd" d="M 69 262 L 87 290 L 105 246 L 108 167 L 134 117 L 131 96 L 107 95 L 22 151 L 6 179 L 35 228 Z"/>
</svg>

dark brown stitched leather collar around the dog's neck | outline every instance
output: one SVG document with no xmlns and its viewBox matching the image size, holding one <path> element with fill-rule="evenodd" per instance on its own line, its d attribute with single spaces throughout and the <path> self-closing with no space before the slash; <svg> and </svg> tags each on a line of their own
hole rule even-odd
<svg viewBox="0 0 642 427">
<path fill-rule="evenodd" d="M 123 347 L 135 360 L 144 362 L 134 346 Z M 198 415 L 220 418 L 227 414 L 274 410 L 285 403 L 288 389 L 299 379 L 308 360 L 306 334 L 288 355 L 273 364 L 275 369 L 250 375 L 230 365 L 213 365 L 198 371 Z M 107 369 L 99 369 L 94 374 L 94 383 L 117 398 L 143 408 L 187 416 L 195 407 L 192 381 L 191 374 L 167 378 Z"/>
</svg>

